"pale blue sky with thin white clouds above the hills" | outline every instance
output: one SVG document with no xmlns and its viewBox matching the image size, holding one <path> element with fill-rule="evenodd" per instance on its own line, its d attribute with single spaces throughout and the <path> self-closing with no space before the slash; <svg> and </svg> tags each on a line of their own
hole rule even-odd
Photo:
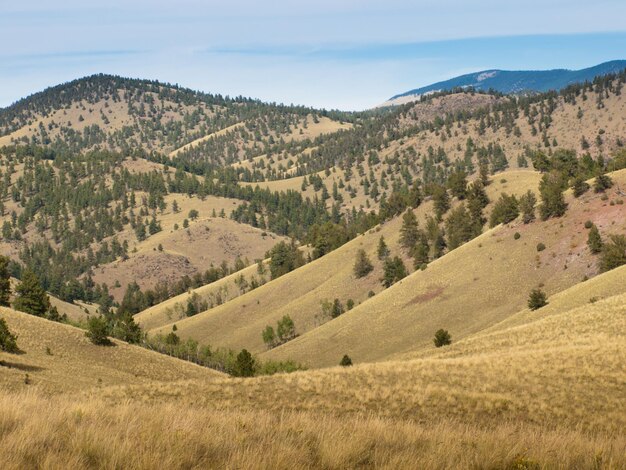
<svg viewBox="0 0 626 470">
<path fill-rule="evenodd" d="M 0 107 L 111 73 L 361 110 L 484 69 L 626 59 L 624 0 L 0 0 Z"/>
</svg>

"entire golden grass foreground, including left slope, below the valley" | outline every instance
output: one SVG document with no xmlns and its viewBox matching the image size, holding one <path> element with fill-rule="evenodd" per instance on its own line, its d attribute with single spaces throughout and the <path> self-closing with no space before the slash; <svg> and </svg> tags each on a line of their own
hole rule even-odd
<svg viewBox="0 0 626 470">
<path fill-rule="evenodd" d="M 553 311 L 412 360 L 252 379 L 2 309 L 25 354 L 0 360 L 29 365 L 31 383 L 2 366 L 0 466 L 623 468 L 625 305 Z"/>
</svg>

